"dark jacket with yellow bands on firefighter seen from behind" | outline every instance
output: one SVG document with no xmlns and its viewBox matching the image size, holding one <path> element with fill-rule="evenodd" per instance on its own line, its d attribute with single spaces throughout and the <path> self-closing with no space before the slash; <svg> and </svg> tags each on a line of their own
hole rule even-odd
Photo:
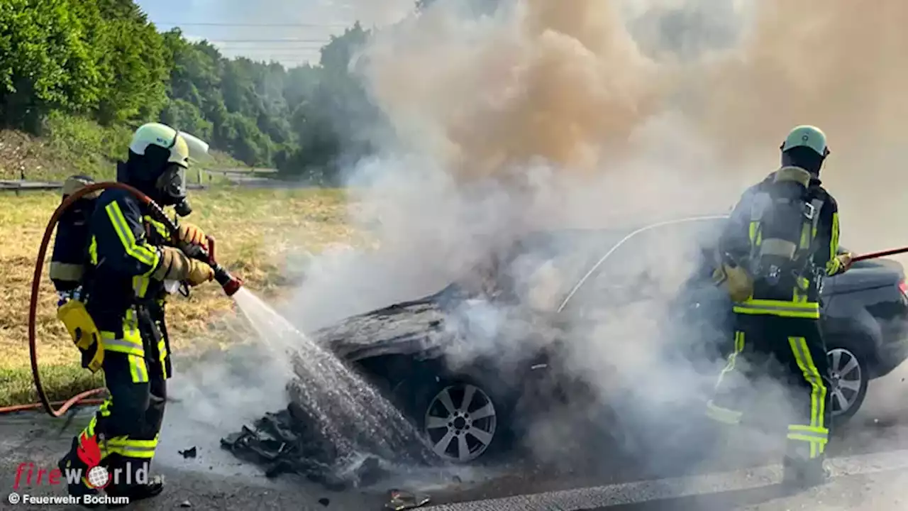
<svg viewBox="0 0 908 511">
<path fill-rule="evenodd" d="M 755 195 L 773 182 L 775 173 L 764 181 L 751 186 L 735 205 L 720 241 L 719 250 L 724 257 L 744 261 L 755 243 L 755 225 L 751 218 L 751 205 Z M 735 303 L 740 314 L 771 314 L 774 316 L 819 318 L 820 286 L 824 276 L 834 276 L 844 271 L 839 253 L 839 212 L 832 195 L 821 181 L 814 177 L 808 186 L 808 201 L 822 201 L 818 222 L 811 233 L 813 255 L 808 271 L 798 276 L 796 286 L 779 289 L 754 283 L 753 295 Z"/>
</svg>

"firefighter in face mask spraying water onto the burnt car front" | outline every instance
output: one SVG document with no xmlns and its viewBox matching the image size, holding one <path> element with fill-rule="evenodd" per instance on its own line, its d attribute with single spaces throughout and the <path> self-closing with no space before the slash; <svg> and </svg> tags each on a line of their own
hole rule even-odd
<svg viewBox="0 0 908 511">
<path fill-rule="evenodd" d="M 117 167 L 117 180 L 132 185 L 161 206 L 188 211 L 185 171 L 189 146 L 173 128 L 141 126 L 129 157 Z M 86 466 L 78 450 L 86 438 L 100 446 L 101 466 L 110 476 L 109 496 L 131 501 L 156 496 L 163 481 L 149 476 L 163 422 L 166 380 L 171 376 L 170 339 L 164 325 L 165 284 L 198 286 L 213 278 L 211 266 L 170 245 L 164 225 L 129 192 L 106 189 L 88 216 L 88 264 L 84 308 L 100 333 L 102 368 L 109 397 L 60 461 L 65 469 Z M 182 224 L 183 243 L 202 243 L 197 227 Z M 52 271 L 52 277 L 53 277 Z M 66 472 L 64 471 L 64 474 Z M 83 472 L 85 474 L 85 471 Z M 71 495 L 96 493 L 85 484 L 69 485 Z"/>
</svg>

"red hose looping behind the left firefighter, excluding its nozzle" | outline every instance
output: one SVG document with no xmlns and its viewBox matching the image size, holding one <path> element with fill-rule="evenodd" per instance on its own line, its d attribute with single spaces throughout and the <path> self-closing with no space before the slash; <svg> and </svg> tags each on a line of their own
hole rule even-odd
<svg viewBox="0 0 908 511">
<path fill-rule="evenodd" d="M 47 222 L 47 228 L 44 229 L 44 237 L 41 240 L 41 247 L 38 249 L 38 256 L 35 260 L 35 276 L 32 279 L 32 299 L 28 306 L 28 350 L 32 362 L 32 376 L 35 378 L 35 391 L 38 393 L 38 398 L 41 400 L 41 402 L 31 405 L 0 407 L 0 414 L 19 412 L 23 410 L 34 410 L 36 408 L 44 407 L 44 411 L 47 412 L 48 415 L 59 417 L 66 413 L 66 410 L 77 404 L 98 404 L 102 401 L 101 399 L 97 398 L 87 399 L 87 397 L 96 396 L 98 394 L 106 392 L 106 389 L 103 387 L 95 388 L 93 390 L 77 394 L 63 402 L 57 401 L 52 403 L 47 399 L 47 395 L 44 393 L 44 386 L 41 385 L 41 375 L 38 372 L 37 343 L 35 342 L 35 316 L 38 307 L 38 294 L 41 290 L 41 275 L 44 271 L 44 257 L 47 255 L 47 247 L 48 245 L 50 245 L 51 236 L 54 234 L 54 228 L 60 221 L 60 217 L 64 214 L 64 211 L 70 205 L 73 205 L 75 201 L 79 200 L 84 195 L 109 188 L 120 188 L 121 190 L 125 190 L 133 194 L 136 199 L 143 203 L 143 205 L 153 206 L 151 208 L 153 211 L 161 211 L 161 208 L 155 205 L 148 195 L 143 194 L 139 190 L 133 188 L 133 186 L 115 182 L 93 183 L 91 185 L 85 185 L 83 188 L 80 188 L 73 192 L 71 195 L 67 196 L 64 201 L 57 206 L 56 210 L 54 211 L 54 215 L 51 215 L 50 221 Z M 167 220 L 169 221 L 169 219 Z M 169 224 L 169 222 L 165 224 Z M 54 408 L 54 406 L 57 405 L 59 405 L 60 407 Z"/>
</svg>

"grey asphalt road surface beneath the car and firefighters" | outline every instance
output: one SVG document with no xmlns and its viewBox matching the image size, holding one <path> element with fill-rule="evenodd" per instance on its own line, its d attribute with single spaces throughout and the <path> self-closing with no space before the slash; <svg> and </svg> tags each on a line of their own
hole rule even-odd
<svg viewBox="0 0 908 511">
<path fill-rule="evenodd" d="M 701 466 L 698 475 L 661 478 L 631 462 L 613 460 L 596 468 L 570 458 L 560 468 L 509 461 L 482 469 L 456 472 L 421 471 L 419 476 L 343 493 L 330 492 L 295 476 L 266 479 L 218 446 L 219 431 L 192 426 L 180 403 L 168 410 L 162 444 L 154 469 L 168 488 L 135 509 L 382 509 L 390 487 L 415 489 L 432 496 L 435 511 L 896 511 L 908 509 L 908 366 L 872 383 L 867 401 L 840 439 L 830 446 L 834 478 L 826 485 L 797 495 L 778 486 L 781 468 L 777 449 L 761 447 L 736 453 L 735 462 Z M 87 410 L 71 421 L 46 416 L 17 415 L 0 419 L 0 508 L 77 508 L 73 506 L 11 506 L 5 500 L 15 484 L 16 467 L 34 463 L 53 467 L 72 435 L 84 425 Z M 68 424 L 67 424 L 68 422 Z M 744 435 L 744 434 L 742 434 Z M 747 445 L 747 437 L 736 439 Z M 196 446 L 198 456 L 177 451 Z M 606 456 L 589 452 L 599 460 Z M 576 455 L 574 455 L 576 456 Z M 587 460 L 588 461 L 588 460 Z M 593 464 L 596 465 L 596 464 Z M 60 486 L 28 486 L 25 495 L 64 495 Z M 320 499 L 322 500 L 320 503 Z"/>
</svg>

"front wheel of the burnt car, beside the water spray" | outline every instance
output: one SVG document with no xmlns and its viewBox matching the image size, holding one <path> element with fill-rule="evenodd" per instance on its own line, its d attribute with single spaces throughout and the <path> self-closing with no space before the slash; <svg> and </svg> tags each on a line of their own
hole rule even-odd
<svg viewBox="0 0 908 511">
<path fill-rule="evenodd" d="M 501 406 L 482 386 L 466 379 L 441 381 L 426 397 L 418 417 L 437 456 L 470 463 L 501 442 Z"/>
</svg>

